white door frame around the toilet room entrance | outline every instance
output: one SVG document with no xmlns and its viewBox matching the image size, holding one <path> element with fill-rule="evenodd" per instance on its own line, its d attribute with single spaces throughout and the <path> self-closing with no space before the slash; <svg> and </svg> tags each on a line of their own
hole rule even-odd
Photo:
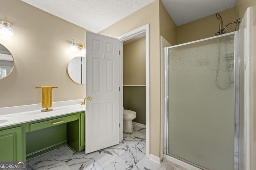
<svg viewBox="0 0 256 170">
<path fill-rule="evenodd" d="M 137 36 L 146 34 L 146 157 L 149 158 L 150 152 L 150 74 L 149 74 L 149 23 L 138 27 L 132 31 L 124 33 L 119 37 L 120 40 L 120 139 L 123 140 L 123 42 Z"/>
</svg>

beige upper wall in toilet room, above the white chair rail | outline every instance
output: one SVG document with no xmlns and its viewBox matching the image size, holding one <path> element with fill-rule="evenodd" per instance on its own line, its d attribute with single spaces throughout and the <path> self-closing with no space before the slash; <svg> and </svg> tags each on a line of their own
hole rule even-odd
<svg viewBox="0 0 256 170">
<path fill-rule="evenodd" d="M 123 84 L 146 84 L 146 38 L 123 46 Z"/>
</svg>

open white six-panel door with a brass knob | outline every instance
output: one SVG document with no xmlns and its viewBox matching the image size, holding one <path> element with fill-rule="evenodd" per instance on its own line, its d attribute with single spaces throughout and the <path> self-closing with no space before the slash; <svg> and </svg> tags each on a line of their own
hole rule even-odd
<svg viewBox="0 0 256 170">
<path fill-rule="evenodd" d="M 119 45 L 86 32 L 86 153 L 119 143 Z"/>
</svg>

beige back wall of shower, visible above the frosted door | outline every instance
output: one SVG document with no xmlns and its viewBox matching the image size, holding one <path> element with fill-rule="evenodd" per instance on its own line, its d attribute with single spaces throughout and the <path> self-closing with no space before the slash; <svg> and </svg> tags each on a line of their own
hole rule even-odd
<svg viewBox="0 0 256 170">
<path fill-rule="evenodd" d="M 222 17 L 223 27 L 235 21 L 235 8 L 218 12 Z M 177 27 L 177 44 L 187 43 L 198 39 L 214 37 L 215 33 L 220 28 L 220 21 L 216 18 L 215 14 L 192 21 Z M 225 29 L 227 32 L 235 31 L 235 24 L 230 24 Z"/>
</svg>

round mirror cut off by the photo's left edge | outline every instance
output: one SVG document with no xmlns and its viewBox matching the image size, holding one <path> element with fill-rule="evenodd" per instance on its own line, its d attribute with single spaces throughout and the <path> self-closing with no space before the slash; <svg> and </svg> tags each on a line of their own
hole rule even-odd
<svg viewBox="0 0 256 170">
<path fill-rule="evenodd" d="M 14 68 L 14 60 L 10 51 L 0 44 L 0 79 L 8 76 Z"/>
</svg>

